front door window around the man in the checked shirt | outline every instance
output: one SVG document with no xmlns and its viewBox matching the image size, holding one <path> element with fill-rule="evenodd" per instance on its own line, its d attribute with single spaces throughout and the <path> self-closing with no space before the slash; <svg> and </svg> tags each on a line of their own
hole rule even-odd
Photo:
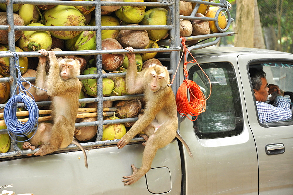
<svg viewBox="0 0 293 195">
<path fill-rule="evenodd" d="M 258 69 L 263 69 L 263 71 L 266 74 L 266 79 L 267 82 L 270 84 L 275 84 L 278 85 L 280 89 L 285 91 L 285 97 L 287 96 L 287 98 L 291 99 L 291 112 L 293 110 L 293 105 L 292 105 L 292 100 L 293 100 L 293 86 L 292 86 L 292 82 L 293 82 L 293 65 L 292 62 L 267 62 L 264 61 L 262 63 L 258 64 L 253 64 L 251 63 L 249 68 L 258 68 Z M 269 98 L 271 97 L 271 95 L 269 95 L 268 97 L 268 101 L 266 101 L 266 103 L 272 104 L 274 105 L 273 101 L 270 101 Z M 258 119 L 259 120 L 259 119 Z M 280 125 L 289 125 L 286 124 L 285 122 L 289 122 L 292 121 L 291 119 L 282 121 L 282 122 L 270 122 L 270 123 L 266 123 L 265 125 L 261 124 L 264 127 L 270 127 L 270 126 L 280 126 Z M 290 123 L 292 124 L 292 123 Z"/>
</svg>

